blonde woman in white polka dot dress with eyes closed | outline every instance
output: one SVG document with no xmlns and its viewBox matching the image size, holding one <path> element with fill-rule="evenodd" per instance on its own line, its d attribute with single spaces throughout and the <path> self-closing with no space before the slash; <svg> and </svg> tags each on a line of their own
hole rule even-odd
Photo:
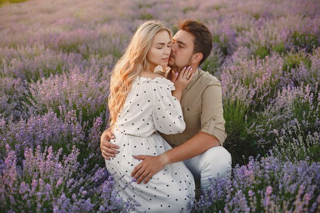
<svg viewBox="0 0 320 213">
<path fill-rule="evenodd" d="M 171 149 L 156 131 L 176 134 L 185 129 L 179 101 L 192 79 L 189 68 L 175 77 L 175 84 L 153 73 L 157 65 L 168 64 L 170 46 L 171 31 L 159 21 L 147 21 L 112 71 L 108 105 L 116 139 L 111 142 L 120 149 L 117 158 L 106 160 L 106 167 L 122 199 L 140 204 L 135 212 L 186 212 L 194 198 L 194 179 L 183 162 L 166 165 L 147 184 L 129 184 L 140 163 L 133 156 L 157 156 Z"/>
</svg>

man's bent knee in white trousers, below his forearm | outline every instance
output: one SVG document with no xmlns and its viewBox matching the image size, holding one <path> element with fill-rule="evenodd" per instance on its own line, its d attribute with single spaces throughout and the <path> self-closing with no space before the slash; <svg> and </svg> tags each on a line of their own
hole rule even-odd
<svg viewBox="0 0 320 213">
<path fill-rule="evenodd" d="M 226 177 L 231 170 L 231 155 L 222 146 L 210 148 L 202 155 L 202 175 L 216 178 L 219 174 L 220 177 Z"/>
</svg>

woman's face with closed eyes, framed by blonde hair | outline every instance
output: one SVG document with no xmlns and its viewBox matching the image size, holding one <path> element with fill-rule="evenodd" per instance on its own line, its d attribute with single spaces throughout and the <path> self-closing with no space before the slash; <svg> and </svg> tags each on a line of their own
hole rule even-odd
<svg viewBox="0 0 320 213">
<path fill-rule="evenodd" d="M 171 52 L 170 46 L 171 39 L 167 31 L 160 31 L 154 35 L 147 53 L 147 61 L 151 71 L 153 71 L 157 65 L 167 66 Z"/>
</svg>

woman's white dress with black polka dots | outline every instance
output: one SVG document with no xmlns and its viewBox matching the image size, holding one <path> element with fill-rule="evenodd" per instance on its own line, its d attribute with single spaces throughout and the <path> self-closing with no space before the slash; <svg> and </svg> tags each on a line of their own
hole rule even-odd
<svg viewBox="0 0 320 213">
<path fill-rule="evenodd" d="M 183 162 L 166 165 L 147 184 L 130 183 L 133 168 L 141 162 L 133 155 L 157 156 L 171 149 L 156 131 L 176 134 L 185 129 L 174 89 L 165 78 L 137 77 L 113 130 L 116 139 L 111 143 L 120 147 L 119 154 L 106 160 L 106 167 L 117 181 L 116 190 L 127 186 L 120 191 L 122 199 L 140 204 L 133 212 L 186 212 L 193 202 L 194 179 Z"/>
</svg>

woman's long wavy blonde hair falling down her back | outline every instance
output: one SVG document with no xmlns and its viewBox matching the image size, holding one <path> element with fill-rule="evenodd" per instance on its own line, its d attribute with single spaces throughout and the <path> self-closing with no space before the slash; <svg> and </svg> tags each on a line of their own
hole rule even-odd
<svg viewBox="0 0 320 213">
<path fill-rule="evenodd" d="M 131 90 L 132 81 L 150 68 L 146 56 L 154 35 L 160 31 L 167 31 L 172 38 L 171 31 L 163 22 L 156 20 L 144 22 L 136 30 L 123 56 L 113 67 L 108 99 L 111 129 L 115 127 L 117 117 Z"/>
</svg>

